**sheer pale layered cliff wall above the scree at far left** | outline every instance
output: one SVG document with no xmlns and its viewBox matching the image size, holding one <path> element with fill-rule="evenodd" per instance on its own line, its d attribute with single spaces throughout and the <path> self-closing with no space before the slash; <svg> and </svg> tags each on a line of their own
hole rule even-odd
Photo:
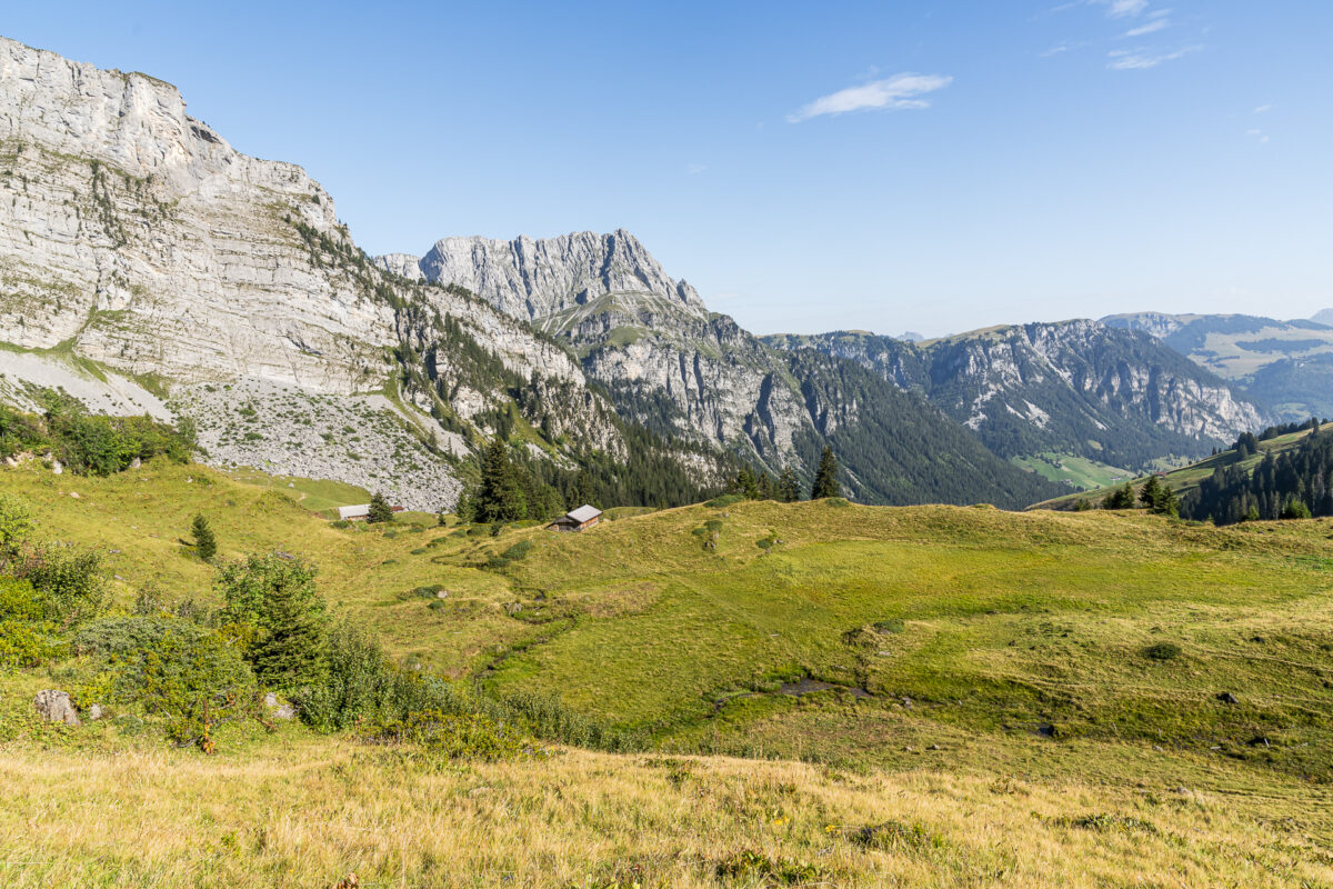
<svg viewBox="0 0 1333 889">
<path fill-rule="evenodd" d="M 392 319 L 311 261 L 320 236 L 345 240 L 324 189 L 233 151 L 171 84 L 0 40 L 7 340 L 188 381 L 365 388 Z"/>
</svg>

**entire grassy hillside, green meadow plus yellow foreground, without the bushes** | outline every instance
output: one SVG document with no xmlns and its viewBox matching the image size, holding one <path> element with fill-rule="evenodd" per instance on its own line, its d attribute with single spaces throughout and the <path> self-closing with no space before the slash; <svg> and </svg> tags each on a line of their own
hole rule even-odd
<svg viewBox="0 0 1333 889">
<path fill-rule="evenodd" d="M 204 512 L 224 557 L 312 558 L 395 653 L 655 750 L 441 766 L 292 724 L 204 757 L 37 726 L 60 676 L 19 670 L 0 858 L 35 864 L 5 885 L 1333 881 L 1329 521 L 716 501 L 492 537 L 336 529 L 200 466 L 0 490 L 112 553 L 121 605 L 211 597 L 177 540 Z"/>
</svg>

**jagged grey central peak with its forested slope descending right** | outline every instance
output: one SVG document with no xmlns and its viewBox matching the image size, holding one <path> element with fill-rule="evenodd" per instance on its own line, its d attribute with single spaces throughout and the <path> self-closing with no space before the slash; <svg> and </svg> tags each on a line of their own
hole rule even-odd
<svg viewBox="0 0 1333 889">
<path fill-rule="evenodd" d="M 555 337 L 627 421 L 806 480 L 832 444 L 858 500 L 1018 506 L 1049 496 L 921 397 L 841 359 L 776 351 L 708 312 L 629 232 L 444 239 L 385 269 L 465 287 Z"/>
</svg>

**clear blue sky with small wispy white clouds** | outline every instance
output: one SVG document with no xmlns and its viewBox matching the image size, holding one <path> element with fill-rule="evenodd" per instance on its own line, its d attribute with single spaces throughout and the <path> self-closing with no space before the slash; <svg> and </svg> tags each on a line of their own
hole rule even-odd
<svg viewBox="0 0 1333 889">
<path fill-rule="evenodd" d="M 1333 4 L 24 4 L 369 252 L 635 232 L 760 332 L 1333 305 Z"/>
</svg>

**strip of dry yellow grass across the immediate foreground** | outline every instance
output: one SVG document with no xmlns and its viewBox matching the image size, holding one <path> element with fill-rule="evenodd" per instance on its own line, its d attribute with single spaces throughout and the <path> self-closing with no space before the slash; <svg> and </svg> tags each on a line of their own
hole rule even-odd
<svg viewBox="0 0 1333 889">
<path fill-rule="evenodd" d="M 1333 885 L 1298 821 L 1225 797 L 986 773 L 583 750 L 437 766 L 291 729 L 213 758 L 11 745 L 0 798 L 13 888 Z M 849 838 L 890 821 L 920 829 Z M 718 876 L 745 852 L 809 868 Z"/>
</svg>

